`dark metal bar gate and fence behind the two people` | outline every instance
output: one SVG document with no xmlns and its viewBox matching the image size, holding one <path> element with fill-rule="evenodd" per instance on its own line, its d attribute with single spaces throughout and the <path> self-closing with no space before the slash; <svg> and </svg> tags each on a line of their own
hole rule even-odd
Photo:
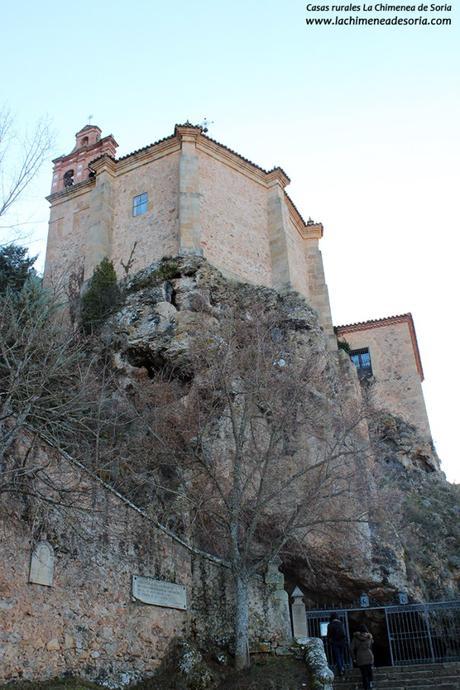
<svg viewBox="0 0 460 690">
<path fill-rule="evenodd" d="M 332 664 L 326 635 L 330 616 L 336 613 L 347 635 L 345 665 L 351 668 L 349 614 L 376 610 L 385 614 L 393 666 L 460 660 L 460 601 L 307 611 L 308 634 L 323 639 L 328 661 Z"/>
</svg>

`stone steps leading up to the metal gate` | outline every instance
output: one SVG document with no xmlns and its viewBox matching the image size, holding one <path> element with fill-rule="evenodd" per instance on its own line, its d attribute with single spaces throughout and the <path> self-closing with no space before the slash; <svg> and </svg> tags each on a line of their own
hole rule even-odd
<svg viewBox="0 0 460 690">
<path fill-rule="evenodd" d="M 361 690 L 359 669 L 334 681 L 334 690 Z M 460 662 L 374 669 L 375 690 L 460 690 Z"/>
</svg>

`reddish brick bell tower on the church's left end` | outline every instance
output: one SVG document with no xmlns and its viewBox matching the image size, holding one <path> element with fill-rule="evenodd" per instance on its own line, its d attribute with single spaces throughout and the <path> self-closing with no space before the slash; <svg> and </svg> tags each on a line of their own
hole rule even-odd
<svg viewBox="0 0 460 690">
<path fill-rule="evenodd" d="M 91 177 L 89 164 L 99 156 L 106 153 L 111 158 L 115 158 L 117 142 L 111 134 L 103 138 L 101 134 L 102 130 L 97 125 L 85 125 L 76 133 L 72 151 L 53 160 L 51 194 L 85 182 Z"/>
</svg>

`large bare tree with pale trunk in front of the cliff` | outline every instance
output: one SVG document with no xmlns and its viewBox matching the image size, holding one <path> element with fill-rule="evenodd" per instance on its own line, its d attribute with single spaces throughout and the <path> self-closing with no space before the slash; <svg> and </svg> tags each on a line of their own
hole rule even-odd
<svg viewBox="0 0 460 690">
<path fill-rule="evenodd" d="M 244 668 L 250 578 L 293 542 L 350 542 L 353 526 L 367 523 L 361 411 L 335 390 L 327 355 L 299 346 L 263 305 L 198 337 L 182 383 L 157 373 L 137 396 L 147 433 L 131 467 L 230 563 L 235 663 Z"/>
</svg>

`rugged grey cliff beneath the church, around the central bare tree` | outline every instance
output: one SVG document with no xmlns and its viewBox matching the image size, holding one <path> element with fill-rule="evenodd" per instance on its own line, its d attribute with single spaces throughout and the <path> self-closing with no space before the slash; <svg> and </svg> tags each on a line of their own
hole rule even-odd
<svg viewBox="0 0 460 690">
<path fill-rule="evenodd" d="M 229 310 L 262 301 L 282 314 L 295 335 L 296 356 L 321 360 L 324 388 L 317 390 L 318 396 L 332 396 L 333 407 L 334 391 L 347 391 L 349 404 L 360 404 L 347 355 L 327 352 L 316 313 L 296 293 L 281 296 L 228 281 L 197 257 L 156 262 L 128 279 L 124 290 L 125 302 L 102 335 L 127 387 L 160 370 L 187 382 L 197 335 L 215 334 Z M 327 415 L 323 421 L 327 426 Z M 337 545 L 323 544 L 306 553 L 291 544 L 283 558 L 288 583 L 300 585 L 311 604 L 352 602 L 363 590 L 378 601 L 393 600 L 401 589 L 416 599 L 454 596 L 458 487 L 445 481 L 434 449 L 416 429 L 390 413 L 372 413 L 366 424 L 371 513 L 375 510 L 360 550 L 350 548 L 347 554 Z"/>
</svg>

